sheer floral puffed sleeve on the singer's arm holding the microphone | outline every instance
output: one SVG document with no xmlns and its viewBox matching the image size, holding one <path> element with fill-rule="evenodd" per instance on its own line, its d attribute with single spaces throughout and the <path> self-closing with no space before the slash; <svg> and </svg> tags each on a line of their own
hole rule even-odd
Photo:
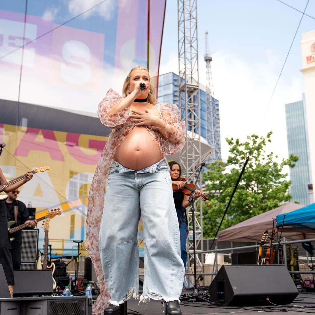
<svg viewBox="0 0 315 315">
<path fill-rule="evenodd" d="M 100 117 L 100 121 L 107 127 L 114 128 L 122 123 L 125 123 L 128 116 L 130 107 L 123 109 L 113 115 L 107 113 L 115 106 L 120 103 L 123 98 L 113 89 L 109 89 L 104 99 L 100 102 L 97 110 L 97 115 Z"/>
</svg>

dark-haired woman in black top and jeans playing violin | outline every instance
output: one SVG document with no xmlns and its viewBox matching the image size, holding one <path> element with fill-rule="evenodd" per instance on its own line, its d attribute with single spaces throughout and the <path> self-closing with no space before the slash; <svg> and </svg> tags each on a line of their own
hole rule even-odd
<svg viewBox="0 0 315 315">
<path fill-rule="evenodd" d="M 170 174 L 173 184 L 173 198 L 177 213 L 177 218 L 179 222 L 179 231 L 180 231 L 180 257 L 184 262 L 186 269 L 187 261 L 187 251 L 186 251 L 186 239 L 187 239 L 187 218 L 185 208 L 189 207 L 192 203 L 188 201 L 189 195 L 185 195 L 182 191 L 182 188 L 185 186 L 185 181 L 179 180 L 181 176 L 181 167 L 180 164 L 172 161 L 169 162 Z M 201 191 L 195 189 L 193 198 L 197 199 L 202 195 Z"/>
</svg>

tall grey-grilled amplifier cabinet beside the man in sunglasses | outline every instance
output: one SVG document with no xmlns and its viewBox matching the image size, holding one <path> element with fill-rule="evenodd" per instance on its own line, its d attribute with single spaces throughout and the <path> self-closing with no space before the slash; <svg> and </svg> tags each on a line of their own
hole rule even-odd
<svg viewBox="0 0 315 315">
<path fill-rule="evenodd" d="M 23 229 L 21 243 L 21 270 L 35 270 L 38 253 L 38 229 Z"/>
</svg>

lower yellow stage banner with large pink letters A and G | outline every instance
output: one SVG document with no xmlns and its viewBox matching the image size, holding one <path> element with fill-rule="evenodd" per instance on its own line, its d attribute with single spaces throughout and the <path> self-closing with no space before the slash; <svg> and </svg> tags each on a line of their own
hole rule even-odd
<svg viewBox="0 0 315 315">
<path fill-rule="evenodd" d="M 36 208 L 36 218 L 52 209 L 60 216 L 49 222 L 49 243 L 53 254 L 77 255 L 73 240 L 84 240 L 88 193 L 97 161 L 108 137 L 69 132 L 23 128 L 0 124 L 3 148 L 0 167 L 6 179 L 13 180 L 41 166 L 50 169 L 33 175 L 19 188 L 18 200 Z M 39 249 L 43 249 L 44 231 L 38 222 Z M 144 255 L 142 224 L 139 224 L 139 253 Z M 88 253 L 80 250 L 83 256 Z"/>
</svg>

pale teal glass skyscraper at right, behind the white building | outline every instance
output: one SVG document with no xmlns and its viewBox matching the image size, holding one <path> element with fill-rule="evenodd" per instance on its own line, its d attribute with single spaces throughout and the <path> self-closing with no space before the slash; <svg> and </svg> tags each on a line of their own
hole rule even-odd
<svg viewBox="0 0 315 315">
<path fill-rule="evenodd" d="M 306 110 L 303 100 L 285 104 L 288 151 L 299 157 L 293 169 L 290 168 L 291 201 L 303 205 L 310 204 L 308 185 L 311 183 L 311 164 L 309 157 Z"/>
</svg>

